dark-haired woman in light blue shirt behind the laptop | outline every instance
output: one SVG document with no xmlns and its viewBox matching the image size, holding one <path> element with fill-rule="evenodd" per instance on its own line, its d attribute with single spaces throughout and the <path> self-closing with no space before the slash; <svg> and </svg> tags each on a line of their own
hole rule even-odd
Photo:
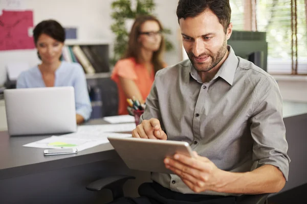
<svg viewBox="0 0 307 204">
<path fill-rule="evenodd" d="M 41 64 L 22 72 L 16 88 L 73 86 L 77 124 L 91 116 L 92 107 L 83 68 L 78 63 L 60 61 L 65 31 L 55 20 L 44 20 L 33 30 L 34 43 Z"/>
</svg>

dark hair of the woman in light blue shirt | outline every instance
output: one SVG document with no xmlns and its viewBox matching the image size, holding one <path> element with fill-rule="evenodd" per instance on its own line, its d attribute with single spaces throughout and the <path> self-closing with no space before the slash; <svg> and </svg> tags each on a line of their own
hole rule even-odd
<svg viewBox="0 0 307 204">
<path fill-rule="evenodd" d="M 41 34 L 46 34 L 57 41 L 65 41 L 65 30 L 62 25 L 55 20 L 43 20 L 36 25 L 33 30 L 34 43 L 36 45 Z"/>
</svg>

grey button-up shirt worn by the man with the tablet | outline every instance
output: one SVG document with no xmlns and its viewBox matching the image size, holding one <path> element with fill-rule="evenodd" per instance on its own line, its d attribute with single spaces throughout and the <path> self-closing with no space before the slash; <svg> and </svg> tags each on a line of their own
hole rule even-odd
<svg viewBox="0 0 307 204">
<path fill-rule="evenodd" d="M 158 71 L 141 119 L 159 119 L 168 140 L 188 142 L 222 170 L 247 172 L 270 164 L 288 180 L 278 85 L 270 74 L 228 49 L 227 60 L 208 83 L 189 60 Z M 172 191 L 194 193 L 177 175 L 153 172 L 151 178 Z"/>
</svg>

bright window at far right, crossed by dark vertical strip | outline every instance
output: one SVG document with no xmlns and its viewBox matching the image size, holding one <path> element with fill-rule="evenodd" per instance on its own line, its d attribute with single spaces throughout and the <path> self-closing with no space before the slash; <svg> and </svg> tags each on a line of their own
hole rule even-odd
<svg viewBox="0 0 307 204">
<path fill-rule="evenodd" d="M 291 0 L 257 0 L 257 28 L 267 32 L 268 72 L 291 74 Z M 307 74 L 304 0 L 297 0 L 298 74 Z"/>
</svg>

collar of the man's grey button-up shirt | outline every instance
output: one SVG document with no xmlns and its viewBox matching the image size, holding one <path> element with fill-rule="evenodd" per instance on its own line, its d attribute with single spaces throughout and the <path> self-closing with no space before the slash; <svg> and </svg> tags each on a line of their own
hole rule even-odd
<svg viewBox="0 0 307 204">
<path fill-rule="evenodd" d="M 229 50 L 228 57 L 225 60 L 225 62 L 222 64 L 221 68 L 215 74 L 213 80 L 218 78 L 218 77 L 221 77 L 228 84 L 230 84 L 232 86 L 233 79 L 234 79 L 234 73 L 235 73 L 235 70 L 238 66 L 239 60 L 235 56 L 235 53 L 234 53 L 234 51 L 233 51 L 233 49 L 230 45 L 227 45 L 227 49 Z M 193 67 L 192 64 L 190 65 L 190 74 L 191 74 L 191 77 L 194 80 L 202 83 L 200 75 L 198 74 L 198 72 L 196 71 L 196 69 Z"/>
</svg>

